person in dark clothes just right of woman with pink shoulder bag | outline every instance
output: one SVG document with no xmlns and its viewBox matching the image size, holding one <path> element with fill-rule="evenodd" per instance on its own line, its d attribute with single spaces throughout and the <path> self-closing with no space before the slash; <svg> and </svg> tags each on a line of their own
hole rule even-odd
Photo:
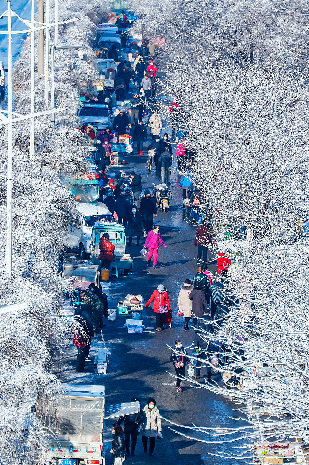
<svg viewBox="0 0 309 465">
<path fill-rule="evenodd" d="M 202 323 L 199 326 L 199 329 L 195 333 L 195 338 L 193 342 L 193 349 L 195 349 L 195 353 L 197 356 L 197 365 L 195 370 L 194 378 L 199 379 L 201 373 L 201 366 L 202 360 L 208 361 L 210 360 L 210 352 L 209 352 L 209 343 L 207 342 L 207 332 L 213 333 L 213 326 L 210 323 L 211 318 L 209 315 L 204 316 L 204 321 L 207 323 Z M 207 369 L 207 381 L 211 379 L 211 366 L 205 364 Z"/>
</svg>

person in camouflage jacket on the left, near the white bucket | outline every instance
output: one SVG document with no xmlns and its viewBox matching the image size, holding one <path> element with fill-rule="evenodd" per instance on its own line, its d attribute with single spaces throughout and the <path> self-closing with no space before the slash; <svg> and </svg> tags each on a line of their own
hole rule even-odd
<svg viewBox="0 0 309 465">
<path fill-rule="evenodd" d="M 107 295 L 100 291 L 94 283 L 90 283 L 88 289 L 84 291 L 83 310 L 91 315 L 93 332 L 99 334 L 103 317 L 108 318 Z M 98 331 L 99 329 L 99 331 Z"/>
</svg>

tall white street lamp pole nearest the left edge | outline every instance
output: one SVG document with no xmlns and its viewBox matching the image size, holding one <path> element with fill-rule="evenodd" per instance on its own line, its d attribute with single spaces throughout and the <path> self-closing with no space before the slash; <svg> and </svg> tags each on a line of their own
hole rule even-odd
<svg viewBox="0 0 309 465">
<path fill-rule="evenodd" d="M 12 112 L 12 22 L 11 0 L 7 0 L 8 22 L 8 83 L 7 83 L 7 111 Z M 7 114 L 12 120 L 12 114 Z M 7 125 L 7 259 L 6 272 L 12 276 L 12 123 Z"/>
</svg>

